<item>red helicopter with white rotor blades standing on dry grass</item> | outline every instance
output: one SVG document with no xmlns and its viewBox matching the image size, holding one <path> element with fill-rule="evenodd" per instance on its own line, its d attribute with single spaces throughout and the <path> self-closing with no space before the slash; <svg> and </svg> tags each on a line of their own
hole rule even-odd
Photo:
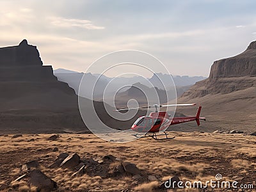
<svg viewBox="0 0 256 192">
<path fill-rule="evenodd" d="M 202 107 L 200 106 L 198 108 L 198 111 L 196 113 L 195 117 L 173 117 L 170 119 L 170 115 L 168 115 L 167 112 L 161 112 L 158 111 L 158 108 L 161 107 L 177 107 L 177 106 L 193 106 L 196 105 L 195 103 L 192 104 L 176 104 L 176 105 L 152 105 L 148 107 L 138 107 L 138 108 L 151 108 L 155 107 L 156 111 L 151 112 L 150 115 L 142 116 L 138 118 L 134 124 L 132 125 L 131 129 L 132 131 L 136 131 L 135 137 L 141 138 L 138 136 L 139 133 L 144 133 L 145 135 L 142 137 L 152 137 L 155 140 L 163 140 L 163 139 L 171 139 L 175 137 L 167 137 L 167 133 L 165 132 L 166 129 L 173 125 L 173 124 L 179 124 L 182 122 L 189 122 L 189 121 L 196 121 L 197 126 L 200 125 L 200 119 L 205 121 L 204 117 L 200 117 L 200 112 Z M 130 109 L 138 109 L 138 108 L 122 108 L 118 109 L 116 111 L 122 111 L 122 110 L 130 110 Z M 161 134 L 164 133 L 164 134 Z M 147 135 L 148 133 L 152 133 L 152 135 Z M 160 133 L 156 135 L 156 133 Z M 166 138 L 157 138 L 157 136 L 165 135 Z"/>
</svg>

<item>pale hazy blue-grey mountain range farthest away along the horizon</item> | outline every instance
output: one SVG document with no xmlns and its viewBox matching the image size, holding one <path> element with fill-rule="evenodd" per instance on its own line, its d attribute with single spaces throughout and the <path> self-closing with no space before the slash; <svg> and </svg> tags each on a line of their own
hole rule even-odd
<svg viewBox="0 0 256 192">
<path fill-rule="evenodd" d="M 62 71 L 65 71 L 65 73 L 60 73 Z M 54 70 L 54 75 L 60 80 L 61 82 L 67 82 L 70 87 L 72 87 L 76 94 L 78 94 L 79 85 L 81 82 L 81 79 L 83 78 L 84 73 L 78 73 L 76 71 L 71 71 L 68 73 L 69 70 Z M 173 84 L 170 82 L 171 77 L 170 75 L 157 73 L 154 74 L 151 78 L 145 79 L 143 77 L 117 77 L 117 78 L 111 78 L 106 77 L 104 75 L 100 74 L 91 74 L 86 73 L 86 80 L 88 82 L 88 86 L 92 85 L 92 82 L 95 81 L 95 78 L 99 78 L 97 81 L 97 84 L 95 86 L 94 92 L 93 92 L 93 99 L 94 100 L 102 100 L 103 91 L 106 88 L 106 86 L 111 82 L 111 84 L 108 85 L 108 89 L 105 90 L 104 94 L 105 96 L 111 96 L 113 95 L 120 87 L 124 87 L 122 91 L 126 91 L 131 87 L 131 85 L 140 83 L 141 85 L 147 85 L 147 87 L 157 87 L 158 89 L 164 89 L 163 85 L 161 85 L 161 82 L 159 82 L 158 77 L 160 77 L 164 81 L 164 85 L 166 85 L 166 90 L 173 89 Z M 195 84 L 196 81 L 202 80 L 204 77 L 188 77 L 188 76 L 175 76 L 173 77 L 173 80 L 176 85 L 177 89 L 177 95 L 180 96 L 184 91 L 187 91 L 188 88 Z M 150 86 L 148 82 L 151 82 L 152 85 Z M 127 86 L 128 85 L 128 86 Z M 92 87 L 88 89 L 87 93 L 84 93 L 84 97 L 86 98 L 92 98 Z"/>
</svg>

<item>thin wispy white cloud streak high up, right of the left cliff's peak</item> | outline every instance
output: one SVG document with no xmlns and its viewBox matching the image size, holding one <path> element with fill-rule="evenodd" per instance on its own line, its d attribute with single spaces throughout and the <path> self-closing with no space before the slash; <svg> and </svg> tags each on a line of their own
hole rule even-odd
<svg viewBox="0 0 256 192">
<path fill-rule="evenodd" d="M 52 25 L 58 27 L 81 27 L 84 29 L 104 29 L 102 26 L 95 26 L 90 20 L 83 20 L 78 18 L 63 18 L 63 17 L 49 17 Z"/>
</svg>

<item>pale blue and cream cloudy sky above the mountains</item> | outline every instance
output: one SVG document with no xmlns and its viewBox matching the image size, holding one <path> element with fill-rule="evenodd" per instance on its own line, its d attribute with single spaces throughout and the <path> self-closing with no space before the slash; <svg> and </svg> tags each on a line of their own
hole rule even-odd
<svg viewBox="0 0 256 192">
<path fill-rule="evenodd" d="M 254 0 L 2 0 L 0 7 L 0 46 L 26 38 L 54 69 L 86 71 L 102 55 L 129 49 L 154 55 L 173 75 L 208 76 L 213 61 L 256 40 Z"/>
</svg>

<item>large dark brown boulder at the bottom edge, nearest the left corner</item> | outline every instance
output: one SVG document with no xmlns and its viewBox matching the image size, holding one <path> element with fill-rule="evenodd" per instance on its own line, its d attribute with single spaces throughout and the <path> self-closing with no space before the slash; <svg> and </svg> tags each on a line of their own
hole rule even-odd
<svg viewBox="0 0 256 192">
<path fill-rule="evenodd" d="M 57 188 L 56 182 L 38 169 L 31 171 L 29 183 L 37 188 L 36 191 L 53 191 Z"/>
</svg>

